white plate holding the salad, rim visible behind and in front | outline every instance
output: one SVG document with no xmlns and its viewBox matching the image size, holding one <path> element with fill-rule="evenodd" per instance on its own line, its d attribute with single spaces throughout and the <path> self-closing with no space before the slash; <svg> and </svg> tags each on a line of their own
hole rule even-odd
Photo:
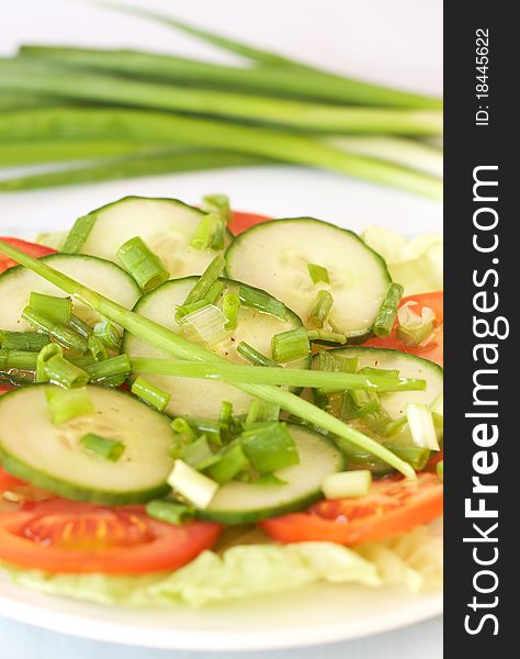
<svg viewBox="0 0 520 659">
<path fill-rule="evenodd" d="M 441 204 L 290 167 L 177 175 L 0 198 L 0 234 L 64 228 L 124 194 L 230 194 L 237 209 L 278 216 L 316 215 L 362 230 L 380 224 L 407 234 L 442 230 Z M 0 577 L 0 615 L 55 632 L 152 648 L 249 650 L 308 646 L 377 634 L 440 614 L 439 593 L 319 584 L 276 597 L 202 611 L 128 611 L 49 597 Z"/>
</svg>

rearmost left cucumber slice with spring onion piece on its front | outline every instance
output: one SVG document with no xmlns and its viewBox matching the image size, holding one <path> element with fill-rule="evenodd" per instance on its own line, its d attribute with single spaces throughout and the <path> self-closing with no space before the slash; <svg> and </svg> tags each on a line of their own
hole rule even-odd
<svg viewBox="0 0 520 659">
<path fill-rule="evenodd" d="M 118 263 L 117 249 L 131 238 L 140 236 L 172 278 L 202 275 L 218 254 L 190 247 L 204 213 L 177 199 L 125 197 L 90 215 L 95 216 L 95 223 L 81 248 L 82 254 Z M 229 243 L 230 234 L 227 236 Z"/>
</svg>

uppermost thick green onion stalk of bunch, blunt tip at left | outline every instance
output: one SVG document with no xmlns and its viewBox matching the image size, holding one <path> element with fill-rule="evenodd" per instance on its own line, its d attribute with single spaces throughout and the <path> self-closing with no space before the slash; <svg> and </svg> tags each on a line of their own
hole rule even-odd
<svg viewBox="0 0 520 659">
<path fill-rule="evenodd" d="M 395 108 L 440 109 L 442 101 L 409 92 L 387 89 L 359 80 L 340 78 L 310 69 L 286 67 L 234 67 L 208 62 L 185 59 L 142 51 L 115 51 L 72 48 L 41 45 L 23 45 L 23 58 L 38 62 L 56 62 L 59 66 L 81 67 L 99 71 L 122 72 L 132 77 L 197 85 L 222 85 L 225 89 L 237 89 L 265 93 L 267 96 L 295 97 L 303 100 L 334 101 L 347 104 L 368 104 Z M 39 103 L 38 103 L 39 100 Z M 43 99 L 47 103 L 55 101 Z M 24 94 L 14 109 L 25 105 L 42 107 L 41 97 Z M 16 104 L 18 103 L 18 104 Z M 9 109 L 9 105 L 7 108 Z"/>
</svg>

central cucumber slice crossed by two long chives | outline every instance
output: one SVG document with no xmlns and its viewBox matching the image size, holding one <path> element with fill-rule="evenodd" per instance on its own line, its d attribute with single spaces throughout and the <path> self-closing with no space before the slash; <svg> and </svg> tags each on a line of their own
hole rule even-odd
<svg viewBox="0 0 520 659">
<path fill-rule="evenodd" d="M 134 311 L 144 315 L 165 327 L 174 332 L 182 332 L 174 320 L 176 305 L 181 304 L 190 290 L 196 282 L 196 277 L 173 279 L 167 281 L 154 291 L 144 295 L 136 304 Z M 225 291 L 238 292 L 239 282 L 222 279 L 225 282 Z M 263 355 L 271 357 L 271 337 L 279 332 L 285 332 L 299 327 L 302 321 L 289 311 L 287 321 L 281 321 L 274 316 L 260 313 L 255 309 L 240 308 L 238 313 L 238 327 L 230 334 L 227 342 L 213 347 L 213 351 L 226 357 L 236 364 L 247 364 L 237 350 L 236 346 L 245 340 Z M 190 334 L 191 340 L 196 336 Z M 132 357 L 162 357 L 171 359 L 158 348 L 154 348 L 143 340 L 125 332 L 123 350 Z M 291 364 L 293 368 L 308 368 L 309 359 L 302 359 Z M 138 375 L 138 373 L 135 373 Z M 171 416 L 189 415 L 200 418 L 218 418 L 221 403 L 229 401 L 233 403 L 235 414 L 244 414 L 248 411 L 251 396 L 239 391 L 230 384 L 211 380 L 196 380 L 191 378 L 173 378 L 169 376 L 155 376 L 143 373 L 143 376 L 171 394 L 170 403 L 166 410 Z"/>
</svg>

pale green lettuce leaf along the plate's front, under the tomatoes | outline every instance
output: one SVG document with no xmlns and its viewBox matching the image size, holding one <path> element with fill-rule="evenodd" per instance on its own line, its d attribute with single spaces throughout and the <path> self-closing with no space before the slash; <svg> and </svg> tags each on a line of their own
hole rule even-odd
<svg viewBox="0 0 520 659">
<path fill-rule="evenodd" d="M 355 549 L 332 543 L 231 546 L 222 554 L 204 551 L 177 572 L 143 577 L 7 569 L 15 583 L 46 594 L 123 606 L 201 607 L 318 581 L 346 588 L 352 583 L 372 588 L 397 584 L 417 592 L 442 583 L 442 540 L 440 530 L 432 528 L 418 527 Z"/>
</svg>

